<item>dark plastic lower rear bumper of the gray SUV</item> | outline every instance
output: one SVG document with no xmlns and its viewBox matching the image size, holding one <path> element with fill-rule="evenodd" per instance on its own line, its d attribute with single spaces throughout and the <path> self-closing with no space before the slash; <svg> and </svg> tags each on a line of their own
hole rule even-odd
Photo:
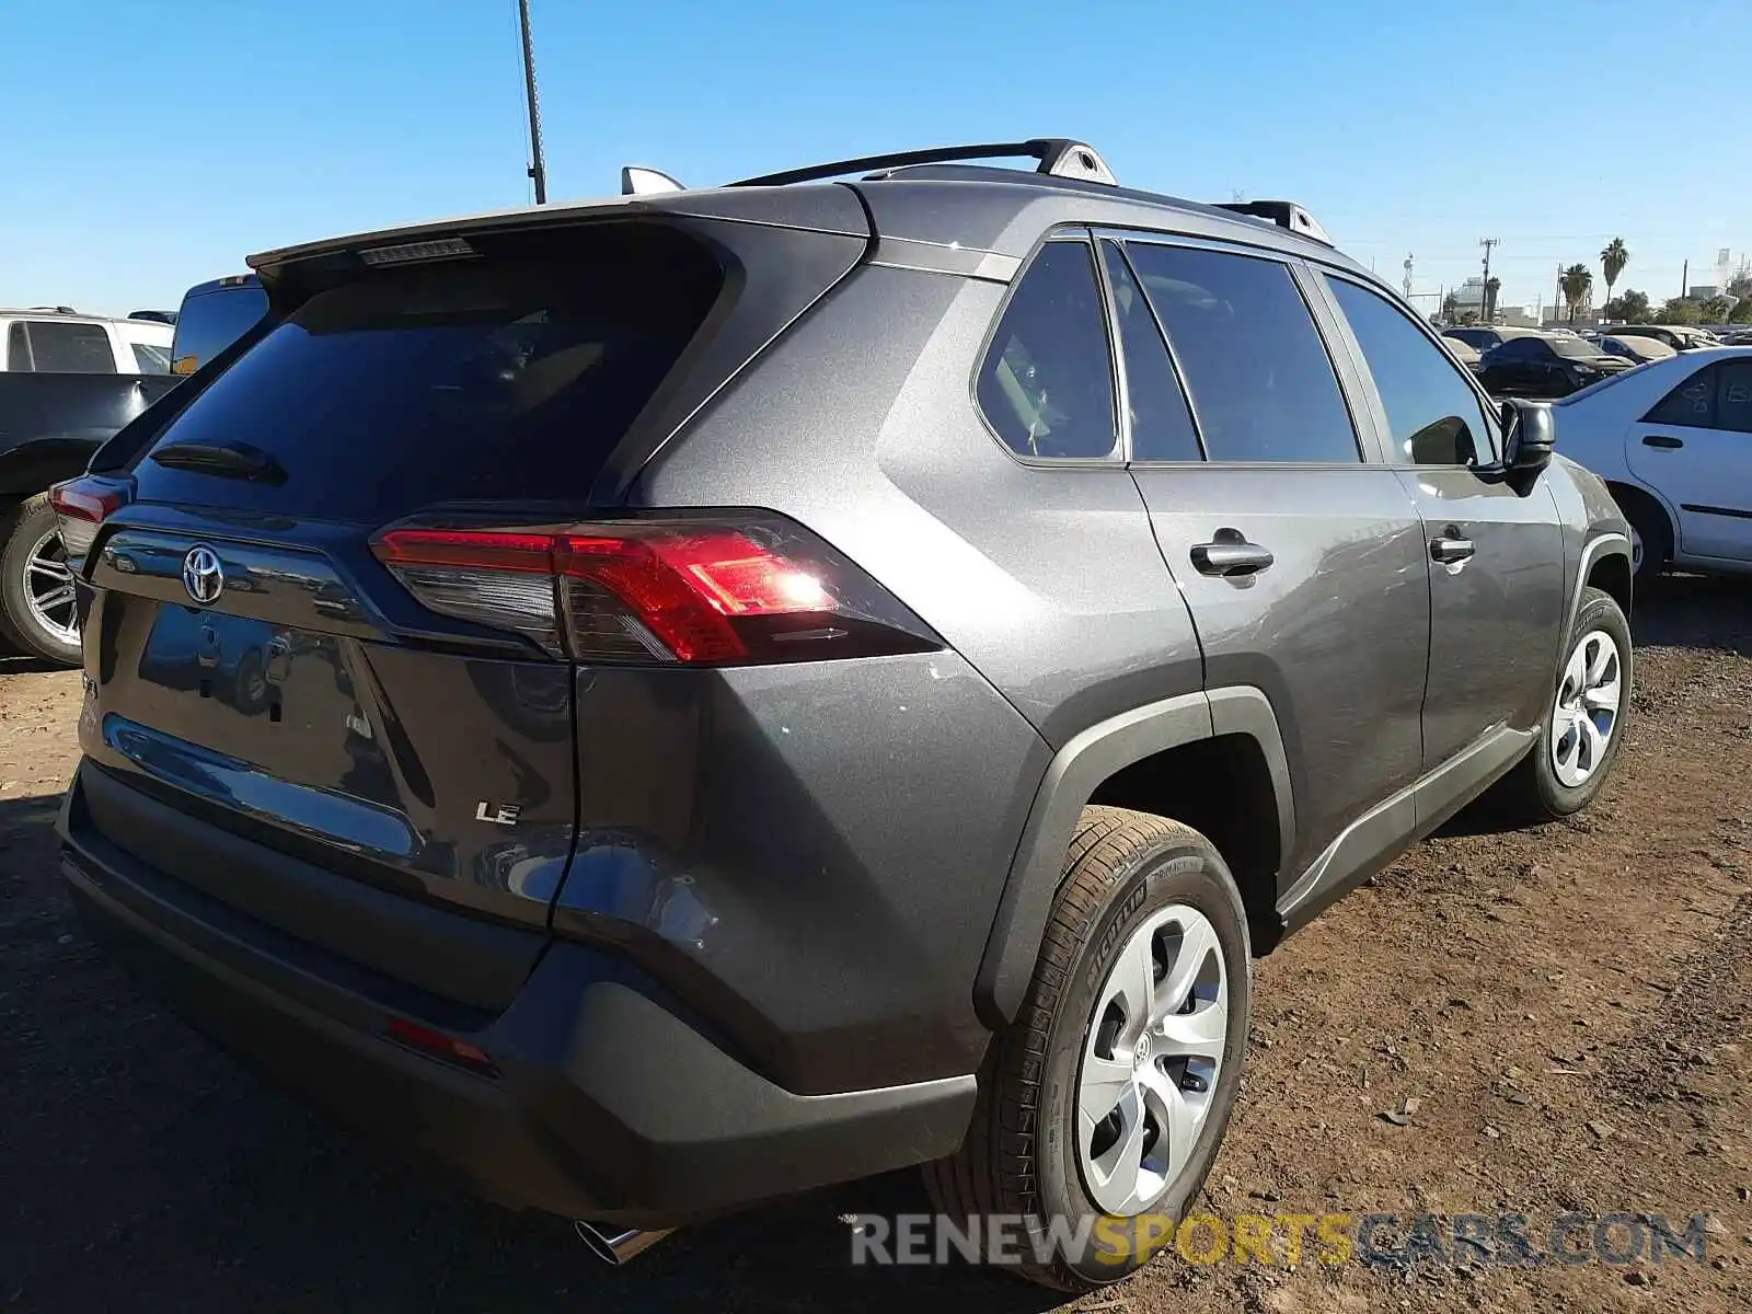
<svg viewBox="0 0 1752 1314">
<path fill-rule="evenodd" d="M 147 867 L 79 809 L 75 778 L 61 871 L 93 939 L 277 1084 L 499 1204 L 673 1226 L 951 1153 L 972 1114 L 972 1076 L 787 1091 L 580 944 L 550 944 L 505 1011 L 459 1009 Z M 498 1074 L 391 1041 L 396 1018 L 484 1049 Z"/>
</svg>

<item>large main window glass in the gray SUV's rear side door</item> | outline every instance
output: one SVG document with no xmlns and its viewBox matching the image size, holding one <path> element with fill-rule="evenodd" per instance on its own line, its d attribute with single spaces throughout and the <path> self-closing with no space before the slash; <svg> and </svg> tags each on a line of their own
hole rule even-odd
<svg viewBox="0 0 1752 1314">
<path fill-rule="evenodd" d="M 1286 265 L 1127 244 L 1212 461 L 1356 463 L 1332 359 Z"/>
</svg>

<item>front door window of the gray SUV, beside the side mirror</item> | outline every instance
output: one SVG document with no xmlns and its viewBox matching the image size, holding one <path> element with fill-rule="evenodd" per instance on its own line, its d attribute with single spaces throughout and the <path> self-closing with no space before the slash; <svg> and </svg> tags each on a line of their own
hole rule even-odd
<svg viewBox="0 0 1752 1314">
<path fill-rule="evenodd" d="M 1382 296 L 1346 279 L 1326 279 L 1351 322 L 1393 429 L 1395 459 L 1419 466 L 1470 466 L 1491 459 L 1484 408 L 1442 349 Z"/>
</svg>

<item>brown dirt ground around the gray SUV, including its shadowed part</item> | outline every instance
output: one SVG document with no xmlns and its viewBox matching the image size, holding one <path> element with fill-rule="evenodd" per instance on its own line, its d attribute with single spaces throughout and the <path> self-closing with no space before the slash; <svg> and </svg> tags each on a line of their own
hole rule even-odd
<svg viewBox="0 0 1752 1314">
<path fill-rule="evenodd" d="M 1638 608 L 1615 778 L 1582 818 L 1461 818 L 1258 971 L 1219 1216 L 1710 1214 L 1708 1261 L 1195 1267 L 1088 1310 L 1752 1309 L 1752 583 Z M 955 1309 L 1053 1298 L 853 1268 L 844 1216 L 911 1174 L 676 1233 L 632 1267 L 559 1219 L 378 1165 L 159 1013 L 54 874 L 77 675 L 0 664 L 0 1309 Z M 1410 1113 L 1407 1114 L 1407 1100 Z M 1384 1114 L 1393 1113 L 1398 1121 Z"/>
</svg>

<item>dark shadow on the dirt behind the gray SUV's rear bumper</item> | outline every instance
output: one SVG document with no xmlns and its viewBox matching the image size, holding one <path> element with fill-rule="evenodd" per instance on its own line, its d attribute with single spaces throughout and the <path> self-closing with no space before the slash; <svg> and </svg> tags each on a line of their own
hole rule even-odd
<svg viewBox="0 0 1752 1314">
<path fill-rule="evenodd" d="M 1007 1275 L 851 1267 L 839 1216 L 925 1209 L 911 1172 L 699 1225 L 615 1270 L 562 1219 L 378 1163 L 158 1011 L 88 943 L 54 874 L 56 808 L 0 802 L 0 1309 L 1055 1303 Z"/>
</svg>

